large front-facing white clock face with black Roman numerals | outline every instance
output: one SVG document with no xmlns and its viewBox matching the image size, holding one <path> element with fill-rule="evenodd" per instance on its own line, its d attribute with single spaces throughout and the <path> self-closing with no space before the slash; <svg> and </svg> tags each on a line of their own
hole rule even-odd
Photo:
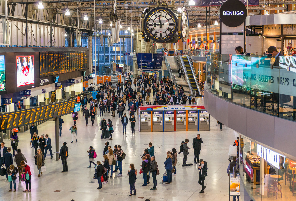
<svg viewBox="0 0 296 201">
<path fill-rule="evenodd" d="M 166 42 L 176 35 L 176 14 L 168 8 L 157 7 L 147 13 L 144 19 L 144 31 L 155 42 Z"/>
</svg>

